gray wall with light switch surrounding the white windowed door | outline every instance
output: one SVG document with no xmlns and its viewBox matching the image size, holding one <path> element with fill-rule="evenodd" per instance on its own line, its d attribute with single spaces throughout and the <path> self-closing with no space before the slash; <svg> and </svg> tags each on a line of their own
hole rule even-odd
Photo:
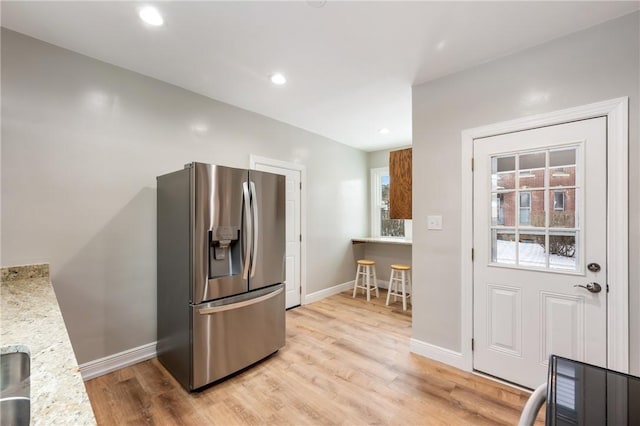
<svg viewBox="0 0 640 426">
<path fill-rule="evenodd" d="M 639 20 L 627 15 L 413 88 L 415 339 L 461 350 L 460 212 L 471 208 L 460 204 L 461 131 L 629 96 L 630 356 L 640 373 Z M 441 232 L 426 230 L 434 213 Z"/>
</svg>

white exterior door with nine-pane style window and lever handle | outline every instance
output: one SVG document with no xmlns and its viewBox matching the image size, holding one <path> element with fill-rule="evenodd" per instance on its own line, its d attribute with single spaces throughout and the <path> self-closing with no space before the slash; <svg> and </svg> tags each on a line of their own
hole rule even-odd
<svg viewBox="0 0 640 426">
<path fill-rule="evenodd" d="M 606 125 L 474 140 L 475 370 L 535 388 L 550 354 L 606 367 Z"/>
</svg>

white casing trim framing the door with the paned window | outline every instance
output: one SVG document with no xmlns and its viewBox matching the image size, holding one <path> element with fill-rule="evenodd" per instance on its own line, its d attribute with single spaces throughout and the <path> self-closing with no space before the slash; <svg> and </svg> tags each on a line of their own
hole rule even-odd
<svg viewBox="0 0 640 426">
<path fill-rule="evenodd" d="M 629 372 L 629 98 L 622 97 L 462 131 L 461 352 L 473 370 L 473 158 L 474 139 L 607 117 L 607 367 Z M 466 206 L 466 207 L 465 207 Z"/>
</svg>

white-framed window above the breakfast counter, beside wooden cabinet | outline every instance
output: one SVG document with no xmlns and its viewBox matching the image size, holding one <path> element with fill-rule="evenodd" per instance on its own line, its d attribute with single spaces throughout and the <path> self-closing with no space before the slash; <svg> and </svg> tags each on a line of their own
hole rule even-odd
<svg viewBox="0 0 640 426">
<path fill-rule="evenodd" d="M 389 219 L 389 168 L 371 169 L 371 236 L 411 238 L 411 221 Z"/>
</svg>

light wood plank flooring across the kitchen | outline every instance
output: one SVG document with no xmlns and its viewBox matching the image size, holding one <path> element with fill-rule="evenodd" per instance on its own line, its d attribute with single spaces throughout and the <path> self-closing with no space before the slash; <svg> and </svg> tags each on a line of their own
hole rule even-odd
<svg viewBox="0 0 640 426">
<path fill-rule="evenodd" d="M 385 297 L 288 311 L 283 349 L 201 392 L 157 359 L 89 380 L 98 424 L 517 424 L 526 392 L 410 353 L 411 313 Z"/>
</svg>

